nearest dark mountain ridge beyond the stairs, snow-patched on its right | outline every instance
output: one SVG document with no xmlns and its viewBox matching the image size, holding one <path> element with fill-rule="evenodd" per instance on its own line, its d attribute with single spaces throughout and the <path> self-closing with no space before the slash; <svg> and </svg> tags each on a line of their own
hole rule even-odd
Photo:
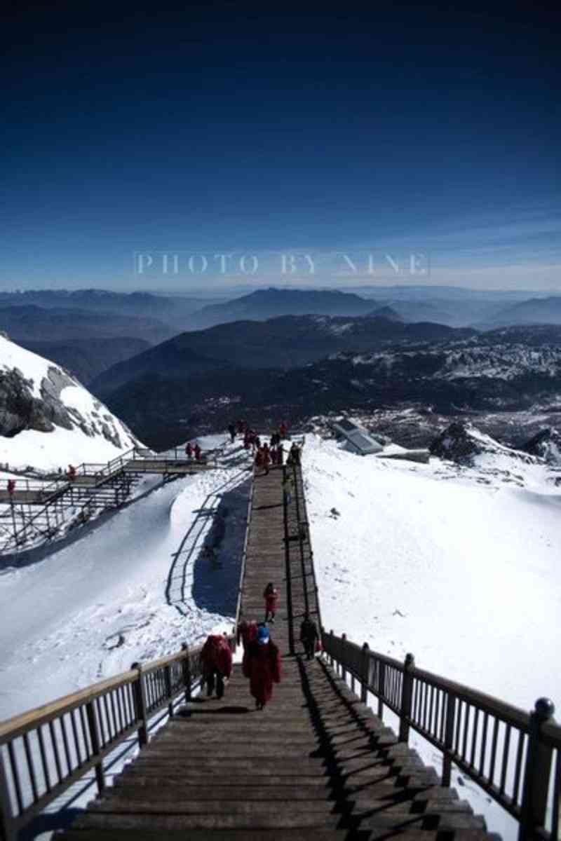
<svg viewBox="0 0 561 841">
<path fill-rule="evenodd" d="M 561 395 L 557 341 L 538 340 L 531 328 L 502 338 L 500 331 L 461 336 L 444 329 L 448 336 L 437 341 L 430 336 L 425 342 L 388 340 L 377 349 L 334 352 L 289 370 L 222 366 L 204 373 L 192 368 L 182 377 L 162 366 L 146 368 L 104 399 L 138 436 L 161 447 L 223 429 L 240 415 L 255 426 L 268 426 L 280 417 L 294 424 L 332 411 L 413 403 L 442 414 L 503 412 Z"/>
</svg>

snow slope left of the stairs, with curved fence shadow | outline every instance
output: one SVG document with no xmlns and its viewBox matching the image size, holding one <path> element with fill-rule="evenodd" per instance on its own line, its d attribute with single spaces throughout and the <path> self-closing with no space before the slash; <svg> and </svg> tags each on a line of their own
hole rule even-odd
<svg viewBox="0 0 561 841">
<path fill-rule="evenodd" d="M 97 530 L 0 575 L 0 720 L 230 629 L 248 476 L 233 465 L 149 480 L 143 499 Z"/>
</svg>

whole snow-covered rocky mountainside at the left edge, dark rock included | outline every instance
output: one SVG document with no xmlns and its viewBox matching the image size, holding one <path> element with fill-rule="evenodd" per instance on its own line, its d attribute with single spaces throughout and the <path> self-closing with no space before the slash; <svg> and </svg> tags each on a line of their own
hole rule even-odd
<svg viewBox="0 0 561 841">
<path fill-rule="evenodd" d="M 45 471 L 104 463 L 135 442 L 76 378 L 0 336 L 0 463 Z"/>
</svg>

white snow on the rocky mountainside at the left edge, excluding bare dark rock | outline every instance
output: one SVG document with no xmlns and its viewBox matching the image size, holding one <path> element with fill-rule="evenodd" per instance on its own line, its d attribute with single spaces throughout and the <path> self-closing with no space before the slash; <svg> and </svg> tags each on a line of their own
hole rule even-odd
<svg viewBox="0 0 561 841">
<path fill-rule="evenodd" d="M 77 379 L 55 362 L 0 336 L 0 375 L 14 370 L 26 381 L 25 393 L 44 407 L 45 418 L 54 428 L 27 428 L 13 437 L 0 435 L 0 463 L 11 468 L 30 465 L 40 470 L 66 470 L 69 463 L 108 462 L 134 446 L 130 430 Z M 52 418 L 53 406 L 66 418 L 68 428 L 57 423 L 57 417 Z"/>
</svg>

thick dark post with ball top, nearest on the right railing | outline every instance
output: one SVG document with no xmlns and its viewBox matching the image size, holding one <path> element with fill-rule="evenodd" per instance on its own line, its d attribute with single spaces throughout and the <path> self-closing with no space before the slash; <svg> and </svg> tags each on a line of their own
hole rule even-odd
<svg viewBox="0 0 561 841">
<path fill-rule="evenodd" d="M 534 838 L 536 829 L 545 825 L 552 748 L 542 743 L 541 731 L 542 725 L 553 719 L 554 712 L 553 701 L 538 698 L 530 713 L 518 841 L 529 841 Z"/>
</svg>

